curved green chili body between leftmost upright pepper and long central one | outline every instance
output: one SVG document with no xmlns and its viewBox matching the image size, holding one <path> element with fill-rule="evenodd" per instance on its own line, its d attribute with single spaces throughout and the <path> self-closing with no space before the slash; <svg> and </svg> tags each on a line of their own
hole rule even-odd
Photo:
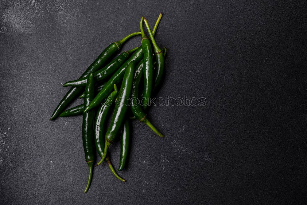
<svg viewBox="0 0 307 205">
<path fill-rule="evenodd" d="M 107 97 L 105 102 L 101 104 L 97 110 L 97 115 L 95 118 L 95 126 L 94 126 L 94 136 L 95 136 L 96 150 L 101 158 L 103 158 L 103 151 L 104 151 L 104 145 L 105 145 L 104 127 L 105 127 L 108 112 L 111 108 L 111 105 L 114 103 L 115 98 L 117 97 L 117 94 L 118 94 L 118 90 L 115 85 L 114 91 Z M 97 165 L 99 164 L 100 163 L 98 163 Z"/>
</svg>

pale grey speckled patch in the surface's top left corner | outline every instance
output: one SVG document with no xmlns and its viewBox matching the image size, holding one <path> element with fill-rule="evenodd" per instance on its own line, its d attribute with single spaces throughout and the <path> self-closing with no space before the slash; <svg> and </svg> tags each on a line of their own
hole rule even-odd
<svg viewBox="0 0 307 205">
<path fill-rule="evenodd" d="M 86 2 L 77 1 L 15 1 L 3 11 L 0 18 L 0 33 L 32 33 L 46 16 L 56 16 L 59 26 L 77 26 L 80 7 Z M 52 5 L 52 6 L 49 6 Z"/>
</svg>

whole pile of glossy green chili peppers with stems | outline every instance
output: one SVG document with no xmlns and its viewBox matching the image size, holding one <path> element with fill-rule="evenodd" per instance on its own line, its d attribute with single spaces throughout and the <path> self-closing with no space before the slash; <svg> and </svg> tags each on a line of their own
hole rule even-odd
<svg viewBox="0 0 307 205">
<path fill-rule="evenodd" d="M 82 141 L 85 160 L 89 168 L 84 193 L 88 191 L 91 185 L 95 150 L 101 157 L 101 160 L 95 166 L 106 161 L 115 177 L 123 182 L 126 181 L 113 168 L 108 147 L 120 136 L 121 150 L 118 171 L 122 171 L 129 152 L 130 120 L 139 120 L 158 136 L 163 137 L 146 116 L 150 97 L 152 97 L 153 92 L 157 92 L 164 73 L 166 48 L 159 48 L 154 39 L 161 17 L 162 14 L 159 15 L 153 30 L 150 29 L 146 18 L 142 17 L 140 22 L 141 32 L 131 33 L 122 40 L 111 43 L 79 79 L 68 81 L 63 85 L 72 88 L 60 101 L 50 120 L 81 114 L 83 116 Z M 145 35 L 143 22 L 146 25 L 149 38 Z M 112 60 L 121 46 L 136 35 L 142 36 L 141 46 L 124 51 Z M 142 79 L 144 85 L 140 86 Z M 117 85 L 120 85 L 119 90 Z M 84 99 L 83 104 L 64 110 L 78 97 Z M 140 102 L 142 102 L 142 105 Z M 111 114 L 111 108 L 113 114 L 107 128 L 107 119 Z M 131 116 L 131 113 L 133 116 Z"/>
</svg>

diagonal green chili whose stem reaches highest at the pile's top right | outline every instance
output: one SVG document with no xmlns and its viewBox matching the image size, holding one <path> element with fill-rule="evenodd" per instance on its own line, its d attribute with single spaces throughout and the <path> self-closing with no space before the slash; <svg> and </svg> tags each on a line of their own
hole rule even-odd
<svg viewBox="0 0 307 205">
<path fill-rule="evenodd" d="M 159 25 L 161 19 L 161 14 L 159 15 L 159 18 L 154 26 L 154 28 L 156 28 L 155 30 L 153 30 L 153 34 L 156 33 L 157 31 L 157 27 Z M 140 46 L 132 55 L 131 57 L 113 74 L 113 76 L 110 78 L 110 80 L 107 82 L 107 84 L 105 85 L 105 87 L 96 95 L 95 99 L 89 104 L 89 106 L 85 109 L 85 111 L 88 111 L 96 106 L 98 106 L 104 98 L 107 97 L 107 95 L 109 94 L 109 92 L 111 92 L 112 87 L 114 84 L 118 84 L 121 80 L 122 77 L 125 73 L 125 69 L 128 66 L 128 64 L 131 61 L 141 61 L 143 57 L 143 49 Z"/>
</svg>

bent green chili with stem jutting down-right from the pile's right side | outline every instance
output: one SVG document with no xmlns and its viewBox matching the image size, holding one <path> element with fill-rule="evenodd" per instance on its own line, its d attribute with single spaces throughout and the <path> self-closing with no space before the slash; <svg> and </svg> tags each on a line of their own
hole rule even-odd
<svg viewBox="0 0 307 205">
<path fill-rule="evenodd" d="M 142 78 L 143 69 L 144 69 L 144 66 L 140 62 L 137 65 L 137 69 L 134 73 L 134 79 L 133 79 L 133 84 L 132 84 L 131 112 L 140 122 L 145 123 L 148 127 L 150 127 L 153 130 L 153 132 L 157 133 L 157 135 L 159 135 L 160 137 L 163 137 L 163 135 L 147 119 L 146 114 L 143 111 L 143 108 L 138 101 L 138 85 L 140 84 L 140 80 Z"/>
</svg>

